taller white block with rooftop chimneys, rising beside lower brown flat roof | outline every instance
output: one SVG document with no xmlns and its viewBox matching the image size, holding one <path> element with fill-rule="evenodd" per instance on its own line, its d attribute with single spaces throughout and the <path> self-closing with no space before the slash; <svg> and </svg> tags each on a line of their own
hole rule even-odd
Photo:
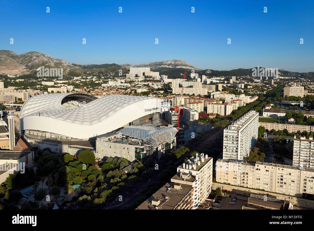
<svg viewBox="0 0 314 231">
<path fill-rule="evenodd" d="M 192 206 L 197 208 L 203 203 L 212 191 L 213 159 L 201 153 L 188 159 L 177 168 L 177 175 L 171 182 L 191 185 L 194 188 Z"/>
</svg>

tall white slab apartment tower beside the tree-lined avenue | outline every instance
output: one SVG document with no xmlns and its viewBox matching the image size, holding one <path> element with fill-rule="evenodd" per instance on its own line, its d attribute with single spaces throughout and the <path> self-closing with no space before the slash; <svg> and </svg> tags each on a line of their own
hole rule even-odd
<svg viewBox="0 0 314 231">
<path fill-rule="evenodd" d="M 244 161 L 258 137 L 258 112 L 250 111 L 224 129 L 223 159 Z"/>
</svg>

